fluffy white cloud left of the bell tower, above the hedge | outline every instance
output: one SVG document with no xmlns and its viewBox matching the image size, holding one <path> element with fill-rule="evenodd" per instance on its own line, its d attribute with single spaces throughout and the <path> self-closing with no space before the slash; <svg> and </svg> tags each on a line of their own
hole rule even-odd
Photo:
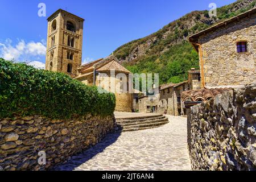
<svg viewBox="0 0 256 182">
<path fill-rule="evenodd" d="M 46 55 L 46 46 L 42 42 L 25 43 L 24 40 L 13 46 L 12 40 L 7 39 L 5 43 L 0 43 L 0 57 L 6 60 L 25 61 L 31 60 L 33 56 Z"/>
</svg>

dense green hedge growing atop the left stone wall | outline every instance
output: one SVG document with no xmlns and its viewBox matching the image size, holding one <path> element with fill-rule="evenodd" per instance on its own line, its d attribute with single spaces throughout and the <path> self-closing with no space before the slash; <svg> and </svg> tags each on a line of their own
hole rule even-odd
<svg viewBox="0 0 256 182">
<path fill-rule="evenodd" d="M 43 115 L 54 119 L 112 115 L 115 96 L 100 94 L 64 73 L 0 59 L 0 118 Z"/>
</svg>

